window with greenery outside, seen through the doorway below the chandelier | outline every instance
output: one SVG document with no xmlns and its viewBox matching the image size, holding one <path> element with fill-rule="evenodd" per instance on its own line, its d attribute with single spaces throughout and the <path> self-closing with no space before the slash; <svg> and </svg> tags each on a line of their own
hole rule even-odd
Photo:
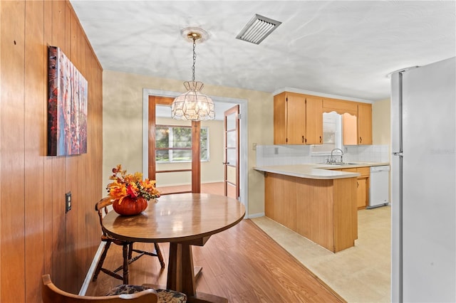
<svg viewBox="0 0 456 303">
<path fill-rule="evenodd" d="M 209 127 L 200 130 L 201 161 L 209 161 Z M 155 161 L 192 161 L 192 127 L 156 126 Z"/>
</svg>

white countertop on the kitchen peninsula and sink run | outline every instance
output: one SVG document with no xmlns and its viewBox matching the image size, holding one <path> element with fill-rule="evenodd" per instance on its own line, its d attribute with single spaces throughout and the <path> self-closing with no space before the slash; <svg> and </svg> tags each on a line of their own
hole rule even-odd
<svg viewBox="0 0 456 303">
<path fill-rule="evenodd" d="M 286 176 L 296 176 L 306 179 L 342 179 L 360 176 L 359 173 L 348 171 L 334 171 L 333 169 L 350 169 L 366 166 L 390 165 L 388 162 L 351 162 L 351 164 L 297 164 L 297 165 L 274 165 L 274 166 L 255 166 L 257 171 L 264 171 L 272 174 L 282 174 Z"/>
</svg>

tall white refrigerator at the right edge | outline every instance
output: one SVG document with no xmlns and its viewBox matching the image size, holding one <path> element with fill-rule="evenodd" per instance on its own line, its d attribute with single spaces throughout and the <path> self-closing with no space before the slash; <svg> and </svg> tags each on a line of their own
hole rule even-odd
<svg viewBox="0 0 456 303">
<path fill-rule="evenodd" d="M 391 75 L 392 302 L 456 302 L 455 70 Z"/>
</svg>

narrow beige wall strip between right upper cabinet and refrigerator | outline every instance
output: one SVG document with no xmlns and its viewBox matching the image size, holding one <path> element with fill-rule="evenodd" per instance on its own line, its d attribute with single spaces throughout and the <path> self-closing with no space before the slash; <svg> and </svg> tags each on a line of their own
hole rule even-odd
<svg viewBox="0 0 456 303">
<path fill-rule="evenodd" d="M 376 145 L 390 144 L 390 99 L 372 105 L 372 140 Z"/>
</svg>

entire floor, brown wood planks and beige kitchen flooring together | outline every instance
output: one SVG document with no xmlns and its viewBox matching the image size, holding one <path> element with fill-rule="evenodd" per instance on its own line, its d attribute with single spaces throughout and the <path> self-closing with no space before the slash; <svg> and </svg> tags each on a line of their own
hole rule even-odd
<svg viewBox="0 0 456 303">
<path fill-rule="evenodd" d="M 223 194 L 223 184 L 202 184 L 202 192 Z M 195 265 L 204 267 L 197 291 L 229 302 L 389 302 L 390 207 L 358 211 L 358 223 L 355 248 L 333 254 L 269 218 L 243 220 L 194 247 Z M 168 245 L 160 247 L 167 259 Z M 119 265 L 120 249 L 111 250 L 108 262 Z M 166 268 L 146 256 L 131 265 L 130 277 L 135 284 L 165 285 Z M 118 284 L 100 273 L 87 294 Z"/>
</svg>

